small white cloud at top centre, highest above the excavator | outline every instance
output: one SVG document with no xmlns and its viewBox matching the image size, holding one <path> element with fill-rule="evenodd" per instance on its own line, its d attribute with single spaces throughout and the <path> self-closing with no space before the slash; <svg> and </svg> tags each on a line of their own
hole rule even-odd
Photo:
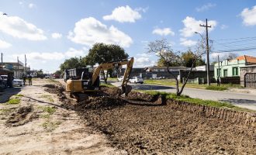
<svg viewBox="0 0 256 155">
<path fill-rule="evenodd" d="M 120 6 L 112 11 L 111 15 L 104 15 L 104 20 L 116 20 L 117 22 L 135 22 L 140 19 L 140 12 L 130 8 L 130 6 Z"/>
</svg>

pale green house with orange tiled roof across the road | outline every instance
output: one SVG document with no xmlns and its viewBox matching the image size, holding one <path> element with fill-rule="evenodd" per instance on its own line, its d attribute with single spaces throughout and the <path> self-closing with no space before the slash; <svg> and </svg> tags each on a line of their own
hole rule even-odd
<svg viewBox="0 0 256 155">
<path fill-rule="evenodd" d="M 223 60 L 214 64 L 214 77 L 240 77 L 240 67 L 256 64 L 256 57 L 243 55 L 234 60 Z M 220 68 L 220 69 L 219 69 Z M 230 78 L 230 79 L 231 79 Z"/>
</svg>

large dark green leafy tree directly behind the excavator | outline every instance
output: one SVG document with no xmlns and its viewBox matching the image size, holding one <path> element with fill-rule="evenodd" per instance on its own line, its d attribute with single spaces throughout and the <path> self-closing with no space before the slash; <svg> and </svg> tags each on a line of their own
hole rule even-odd
<svg viewBox="0 0 256 155">
<path fill-rule="evenodd" d="M 89 50 L 88 55 L 82 60 L 86 65 L 102 64 L 112 60 L 121 60 L 128 58 L 129 55 L 125 52 L 122 47 L 114 44 L 105 43 L 95 43 L 92 49 Z M 105 76 L 103 72 L 103 77 L 105 83 L 107 83 L 109 70 Z"/>
</svg>

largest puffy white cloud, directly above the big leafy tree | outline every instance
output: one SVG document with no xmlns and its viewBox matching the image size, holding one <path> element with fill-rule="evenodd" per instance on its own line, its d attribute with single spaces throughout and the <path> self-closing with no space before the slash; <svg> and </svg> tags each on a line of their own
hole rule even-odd
<svg viewBox="0 0 256 155">
<path fill-rule="evenodd" d="M 133 40 L 114 26 L 109 28 L 93 17 L 75 23 L 73 32 L 67 36 L 74 43 L 92 46 L 94 43 L 113 43 L 130 47 Z"/>
</svg>

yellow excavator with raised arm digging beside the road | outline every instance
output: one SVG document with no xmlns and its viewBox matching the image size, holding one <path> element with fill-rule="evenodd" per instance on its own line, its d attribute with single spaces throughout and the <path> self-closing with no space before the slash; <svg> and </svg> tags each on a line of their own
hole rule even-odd
<svg viewBox="0 0 256 155">
<path fill-rule="evenodd" d="M 77 101 L 82 101 L 88 98 L 90 92 L 99 91 L 99 74 L 101 71 L 108 70 L 111 68 L 119 68 L 123 65 L 126 65 L 126 71 L 123 74 L 123 80 L 121 84 L 122 94 L 128 95 L 132 90 L 131 86 L 128 85 L 130 72 L 133 68 L 134 58 L 131 57 L 130 60 L 116 60 L 112 62 L 107 62 L 100 64 L 92 72 L 88 71 L 88 68 L 83 69 L 71 69 L 66 71 L 69 79 L 66 81 L 66 91 L 70 93 L 71 98 L 76 98 Z M 66 74 L 65 72 L 65 74 Z"/>
</svg>

